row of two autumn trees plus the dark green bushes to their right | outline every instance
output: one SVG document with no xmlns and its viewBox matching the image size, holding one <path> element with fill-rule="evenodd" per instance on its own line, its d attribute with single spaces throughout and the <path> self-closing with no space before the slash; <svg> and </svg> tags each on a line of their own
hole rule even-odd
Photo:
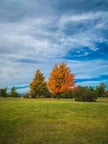
<svg viewBox="0 0 108 144">
<path fill-rule="evenodd" d="M 106 96 L 104 83 L 94 90 L 92 87 L 75 86 L 74 77 L 64 63 L 54 66 L 47 82 L 41 71 L 37 70 L 30 83 L 30 91 L 24 97 L 74 97 L 76 101 L 96 101 L 97 97 Z"/>
</svg>

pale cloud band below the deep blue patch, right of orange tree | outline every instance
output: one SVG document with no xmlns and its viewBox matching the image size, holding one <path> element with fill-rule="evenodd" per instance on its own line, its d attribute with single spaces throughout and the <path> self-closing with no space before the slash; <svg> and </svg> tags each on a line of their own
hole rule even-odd
<svg viewBox="0 0 108 144">
<path fill-rule="evenodd" d="M 92 79 L 107 75 L 108 62 L 104 60 L 67 61 L 76 79 Z"/>
</svg>

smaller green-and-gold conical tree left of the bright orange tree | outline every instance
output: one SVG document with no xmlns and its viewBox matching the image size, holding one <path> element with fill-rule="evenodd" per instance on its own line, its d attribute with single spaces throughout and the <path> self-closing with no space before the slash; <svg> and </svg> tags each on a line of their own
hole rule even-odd
<svg viewBox="0 0 108 144">
<path fill-rule="evenodd" d="M 37 70 L 32 82 L 30 83 L 30 93 L 31 97 L 36 98 L 40 96 L 44 96 L 47 91 L 47 86 L 45 82 L 45 78 L 40 70 Z"/>
</svg>

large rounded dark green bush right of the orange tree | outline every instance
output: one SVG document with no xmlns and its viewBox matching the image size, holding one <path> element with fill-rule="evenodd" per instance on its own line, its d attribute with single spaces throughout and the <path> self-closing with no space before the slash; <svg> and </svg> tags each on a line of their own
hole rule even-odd
<svg viewBox="0 0 108 144">
<path fill-rule="evenodd" d="M 92 87 L 78 86 L 73 90 L 73 97 L 76 101 L 95 102 L 97 99 L 96 91 Z"/>
</svg>

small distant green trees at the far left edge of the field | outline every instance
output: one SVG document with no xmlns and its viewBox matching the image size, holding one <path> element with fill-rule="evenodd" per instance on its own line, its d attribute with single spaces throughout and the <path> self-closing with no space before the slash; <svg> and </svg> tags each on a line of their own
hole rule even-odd
<svg viewBox="0 0 108 144">
<path fill-rule="evenodd" d="M 1 97 L 18 97 L 18 92 L 16 91 L 15 87 L 12 87 L 10 92 L 8 92 L 7 87 L 0 88 L 0 96 Z"/>
</svg>

